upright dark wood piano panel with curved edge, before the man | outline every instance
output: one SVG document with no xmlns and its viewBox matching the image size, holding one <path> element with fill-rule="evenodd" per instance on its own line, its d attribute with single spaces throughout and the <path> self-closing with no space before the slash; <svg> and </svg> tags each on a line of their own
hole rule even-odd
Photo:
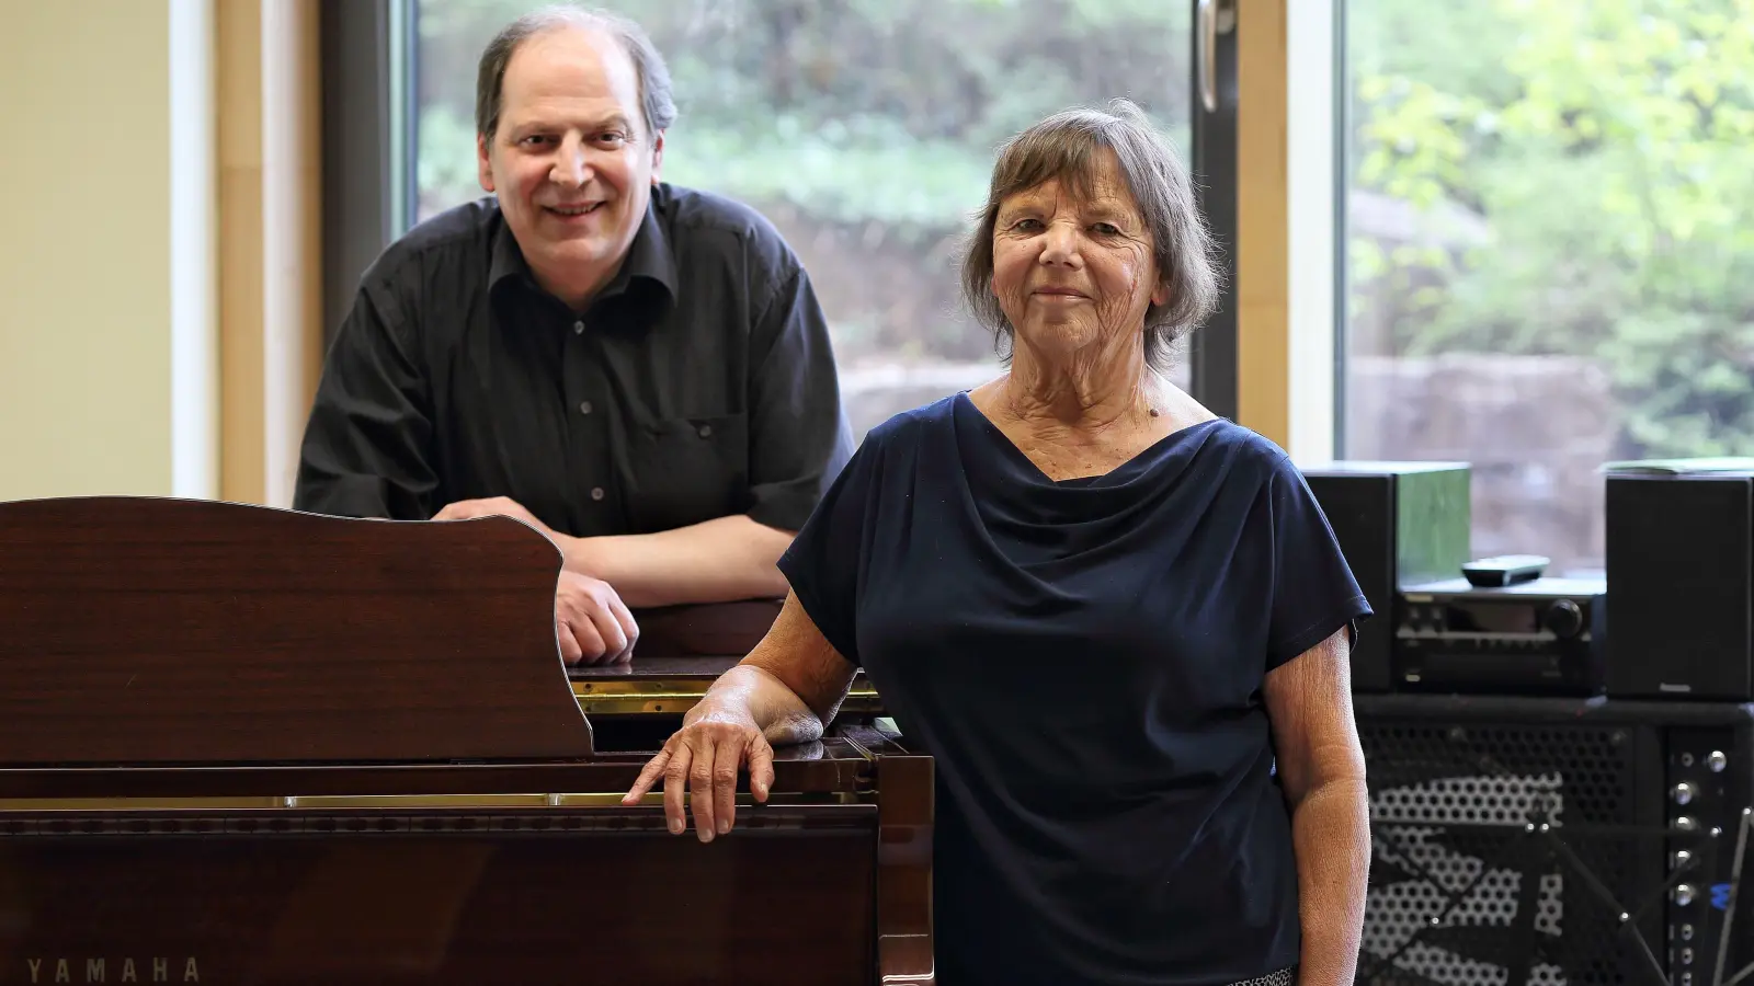
<svg viewBox="0 0 1754 986">
<path fill-rule="evenodd" d="M 560 561 L 509 518 L 0 504 L 0 767 L 589 758 Z"/>
</svg>

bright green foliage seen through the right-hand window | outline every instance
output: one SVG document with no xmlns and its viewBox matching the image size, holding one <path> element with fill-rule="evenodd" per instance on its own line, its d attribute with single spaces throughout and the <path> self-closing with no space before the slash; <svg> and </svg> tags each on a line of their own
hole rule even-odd
<svg viewBox="0 0 1754 986">
<path fill-rule="evenodd" d="M 1394 354 L 1594 356 L 1628 454 L 1754 451 L 1754 0 L 1351 19 L 1356 186 L 1487 230 L 1398 256 L 1354 239 L 1354 284 L 1389 277 L 1401 305 Z"/>
</svg>

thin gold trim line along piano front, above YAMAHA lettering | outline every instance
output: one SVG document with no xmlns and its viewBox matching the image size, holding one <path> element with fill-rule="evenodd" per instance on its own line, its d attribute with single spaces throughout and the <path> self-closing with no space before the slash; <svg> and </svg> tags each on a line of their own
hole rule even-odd
<svg viewBox="0 0 1754 986">
<path fill-rule="evenodd" d="M 872 802 L 870 795 L 824 791 L 809 795 L 768 795 L 766 805 L 854 805 Z M 737 795 L 737 805 L 756 805 L 751 795 Z M 614 809 L 663 807 L 663 790 L 623 805 L 621 793 L 553 795 L 289 795 L 274 798 L 0 798 L 0 823 L 7 812 L 146 812 L 146 811 L 405 811 L 405 809 Z"/>
</svg>

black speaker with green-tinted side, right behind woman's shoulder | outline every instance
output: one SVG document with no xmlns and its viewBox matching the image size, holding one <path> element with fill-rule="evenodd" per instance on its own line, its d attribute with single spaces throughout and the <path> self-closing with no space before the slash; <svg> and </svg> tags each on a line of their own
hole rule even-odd
<svg viewBox="0 0 1754 986">
<path fill-rule="evenodd" d="M 1468 560 L 1468 465 L 1335 461 L 1301 472 L 1375 611 L 1352 647 L 1352 691 L 1389 691 L 1400 588 L 1459 577 Z"/>
</svg>

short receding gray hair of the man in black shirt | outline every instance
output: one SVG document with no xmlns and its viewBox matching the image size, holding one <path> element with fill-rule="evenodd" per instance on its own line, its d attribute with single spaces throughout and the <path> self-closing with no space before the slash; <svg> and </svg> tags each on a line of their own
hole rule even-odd
<svg viewBox="0 0 1754 986">
<path fill-rule="evenodd" d="M 505 25 L 481 53 L 475 72 L 475 133 L 493 139 L 500 126 L 500 104 L 505 89 L 505 67 L 530 39 L 561 30 L 588 28 L 607 33 L 628 53 L 633 75 L 640 86 L 640 116 L 645 118 L 647 137 L 670 130 L 675 123 L 675 98 L 670 93 L 670 67 L 665 65 L 651 37 L 637 23 L 610 11 L 589 11 L 558 4 L 531 11 Z"/>
</svg>

